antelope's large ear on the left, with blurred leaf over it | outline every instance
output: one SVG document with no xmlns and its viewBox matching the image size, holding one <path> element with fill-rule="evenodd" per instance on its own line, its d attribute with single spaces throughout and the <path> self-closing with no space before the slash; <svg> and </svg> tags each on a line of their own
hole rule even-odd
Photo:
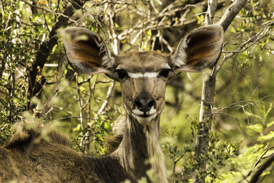
<svg viewBox="0 0 274 183">
<path fill-rule="evenodd" d="M 112 74 L 115 56 L 102 38 L 88 29 L 69 27 L 62 34 L 66 57 L 78 73 Z"/>
</svg>

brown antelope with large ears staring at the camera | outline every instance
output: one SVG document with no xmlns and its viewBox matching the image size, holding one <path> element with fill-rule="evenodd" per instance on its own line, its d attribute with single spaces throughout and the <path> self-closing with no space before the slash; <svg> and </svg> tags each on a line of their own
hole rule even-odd
<svg viewBox="0 0 274 183">
<path fill-rule="evenodd" d="M 80 27 L 64 29 L 66 57 L 77 73 L 104 73 L 120 82 L 126 112 L 123 139 L 112 154 L 90 157 L 73 150 L 58 132 L 49 132 L 51 141 L 36 141 L 40 130 L 17 123 L 10 142 L 0 147 L 0 182 L 151 182 L 149 169 L 158 182 L 168 182 L 160 148 L 166 82 L 182 71 L 212 68 L 222 42 L 223 28 L 209 25 L 186 34 L 171 55 L 145 51 L 116 56 L 98 34 Z"/>
</svg>

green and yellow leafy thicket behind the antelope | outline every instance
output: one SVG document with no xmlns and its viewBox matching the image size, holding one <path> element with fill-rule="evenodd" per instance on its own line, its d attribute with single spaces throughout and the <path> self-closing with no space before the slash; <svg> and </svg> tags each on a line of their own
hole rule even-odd
<svg viewBox="0 0 274 183">
<path fill-rule="evenodd" d="M 238 1 L 216 2 L 210 23 Z M 171 53 L 187 32 L 208 24 L 208 7 L 204 0 L 1 0 L 0 145 L 16 121 L 40 121 L 69 134 L 81 153 L 108 154 L 104 142 L 125 116 L 121 88 L 105 75 L 77 75 L 64 56 L 62 29 L 97 32 L 116 54 Z M 208 146 L 198 158 L 202 85 L 212 71 L 169 82 L 160 130 L 170 182 L 248 182 L 273 157 L 273 12 L 274 1 L 248 0 L 229 23 L 203 123 L 211 129 Z M 273 171 L 267 166 L 260 182 L 273 182 Z"/>
</svg>

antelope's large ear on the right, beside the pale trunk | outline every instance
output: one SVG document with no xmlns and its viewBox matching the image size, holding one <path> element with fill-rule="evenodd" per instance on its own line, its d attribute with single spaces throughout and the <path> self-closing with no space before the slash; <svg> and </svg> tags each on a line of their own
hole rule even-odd
<svg viewBox="0 0 274 183">
<path fill-rule="evenodd" d="M 187 34 L 171 56 L 175 73 L 199 72 L 214 66 L 221 53 L 223 27 L 208 25 Z"/>
</svg>

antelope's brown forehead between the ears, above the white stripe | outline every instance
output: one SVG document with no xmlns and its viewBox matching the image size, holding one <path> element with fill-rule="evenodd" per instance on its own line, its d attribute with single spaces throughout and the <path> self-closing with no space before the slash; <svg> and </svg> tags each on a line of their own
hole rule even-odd
<svg viewBox="0 0 274 183">
<path fill-rule="evenodd" d="M 119 56 L 119 67 L 128 72 L 155 72 L 168 67 L 168 56 L 154 51 L 130 52 Z"/>
</svg>

